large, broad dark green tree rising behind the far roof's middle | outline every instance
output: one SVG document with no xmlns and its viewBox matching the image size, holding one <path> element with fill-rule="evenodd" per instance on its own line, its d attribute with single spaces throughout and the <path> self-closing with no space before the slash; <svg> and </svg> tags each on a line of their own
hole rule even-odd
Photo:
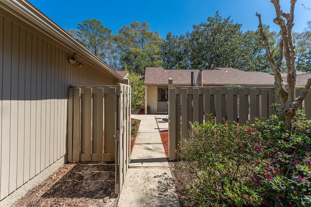
<svg viewBox="0 0 311 207">
<path fill-rule="evenodd" d="M 219 13 L 208 17 L 207 22 L 193 26 L 187 45 L 191 68 L 213 69 L 233 67 L 249 70 L 254 54 L 241 31 L 241 24 L 234 24 L 230 17 Z"/>
</svg>

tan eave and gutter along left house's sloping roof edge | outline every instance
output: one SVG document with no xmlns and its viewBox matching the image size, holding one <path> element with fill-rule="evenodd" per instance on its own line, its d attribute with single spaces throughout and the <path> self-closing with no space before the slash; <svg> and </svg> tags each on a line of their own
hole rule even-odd
<svg viewBox="0 0 311 207">
<path fill-rule="evenodd" d="M 4 0 L 0 2 L 0 7 L 13 16 L 18 17 L 21 21 L 27 22 L 43 34 L 53 37 L 53 40 L 58 44 L 72 50 L 72 55 L 73 53 L 78 53 L 85 61 L 98 69 L 104 70 L 119 81 L 124 82 L 124 79 L 116 71 L 111 69 L 104 61 L 91 53 L 86 47 L 80 44 L 28 1 Z"/>
</svg>

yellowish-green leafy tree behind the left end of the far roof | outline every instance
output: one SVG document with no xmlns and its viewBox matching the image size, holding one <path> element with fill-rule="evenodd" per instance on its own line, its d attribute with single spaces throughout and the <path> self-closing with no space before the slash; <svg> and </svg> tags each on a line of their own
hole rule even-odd
<svg viewBox="0 0 311 207">
<path fill-rule="evenodd" d="M 158 32 L 151 32 L 151 27 L 143 21 L 132 22 L 129 26 L 123 26 L 118 35 L 114 36 L 122 68 L 129 71 L 144 74 L 145 67 L 160 67 L 159 45 L 163 41 Z"/>
</svg>

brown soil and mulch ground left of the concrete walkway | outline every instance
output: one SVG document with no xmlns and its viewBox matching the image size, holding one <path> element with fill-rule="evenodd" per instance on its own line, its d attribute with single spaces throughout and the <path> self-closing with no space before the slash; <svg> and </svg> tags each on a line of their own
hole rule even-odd
<svg viewBox="0 0 311 207">
<path fill-rule="evenodd" d="M 132 147 L 136 136 L 131 136 Z M 14 207 L 113 207 L 117 196 L 113 162 L 66 163 Z"/>
</svg>

